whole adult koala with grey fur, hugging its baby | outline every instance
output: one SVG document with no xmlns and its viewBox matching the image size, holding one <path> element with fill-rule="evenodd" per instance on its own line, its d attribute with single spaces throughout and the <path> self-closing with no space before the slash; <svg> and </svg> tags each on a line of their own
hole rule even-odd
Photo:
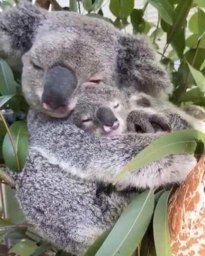
<svg viewBox="0 0 205 256">
<path fill-rule="evenodd" d="M 69 115 L 73 95 L 83 83 L 132 85 L 160 97 L 172 91 L 169 76 L 144 39 L 122 34 L 101 20 L 47 12 L 29 3 L 1 14 L 0 46 L 23 56 L 22 86 L 35 109 L 28 116 L 26 166 L 14 177 L 20 207 L 49 241 L 84 254 L 130 202 L 129 195 L 119 193 L 97 198 L 97 182 L 113 182 L 120 169 L 160 134 L 97 138 L 69 119 L 38 112 Z M 120 186 L 154 188 L 179 182 L 195 163 L 191 155 L 168 156 L 129 174 Z"/>
</svg>

